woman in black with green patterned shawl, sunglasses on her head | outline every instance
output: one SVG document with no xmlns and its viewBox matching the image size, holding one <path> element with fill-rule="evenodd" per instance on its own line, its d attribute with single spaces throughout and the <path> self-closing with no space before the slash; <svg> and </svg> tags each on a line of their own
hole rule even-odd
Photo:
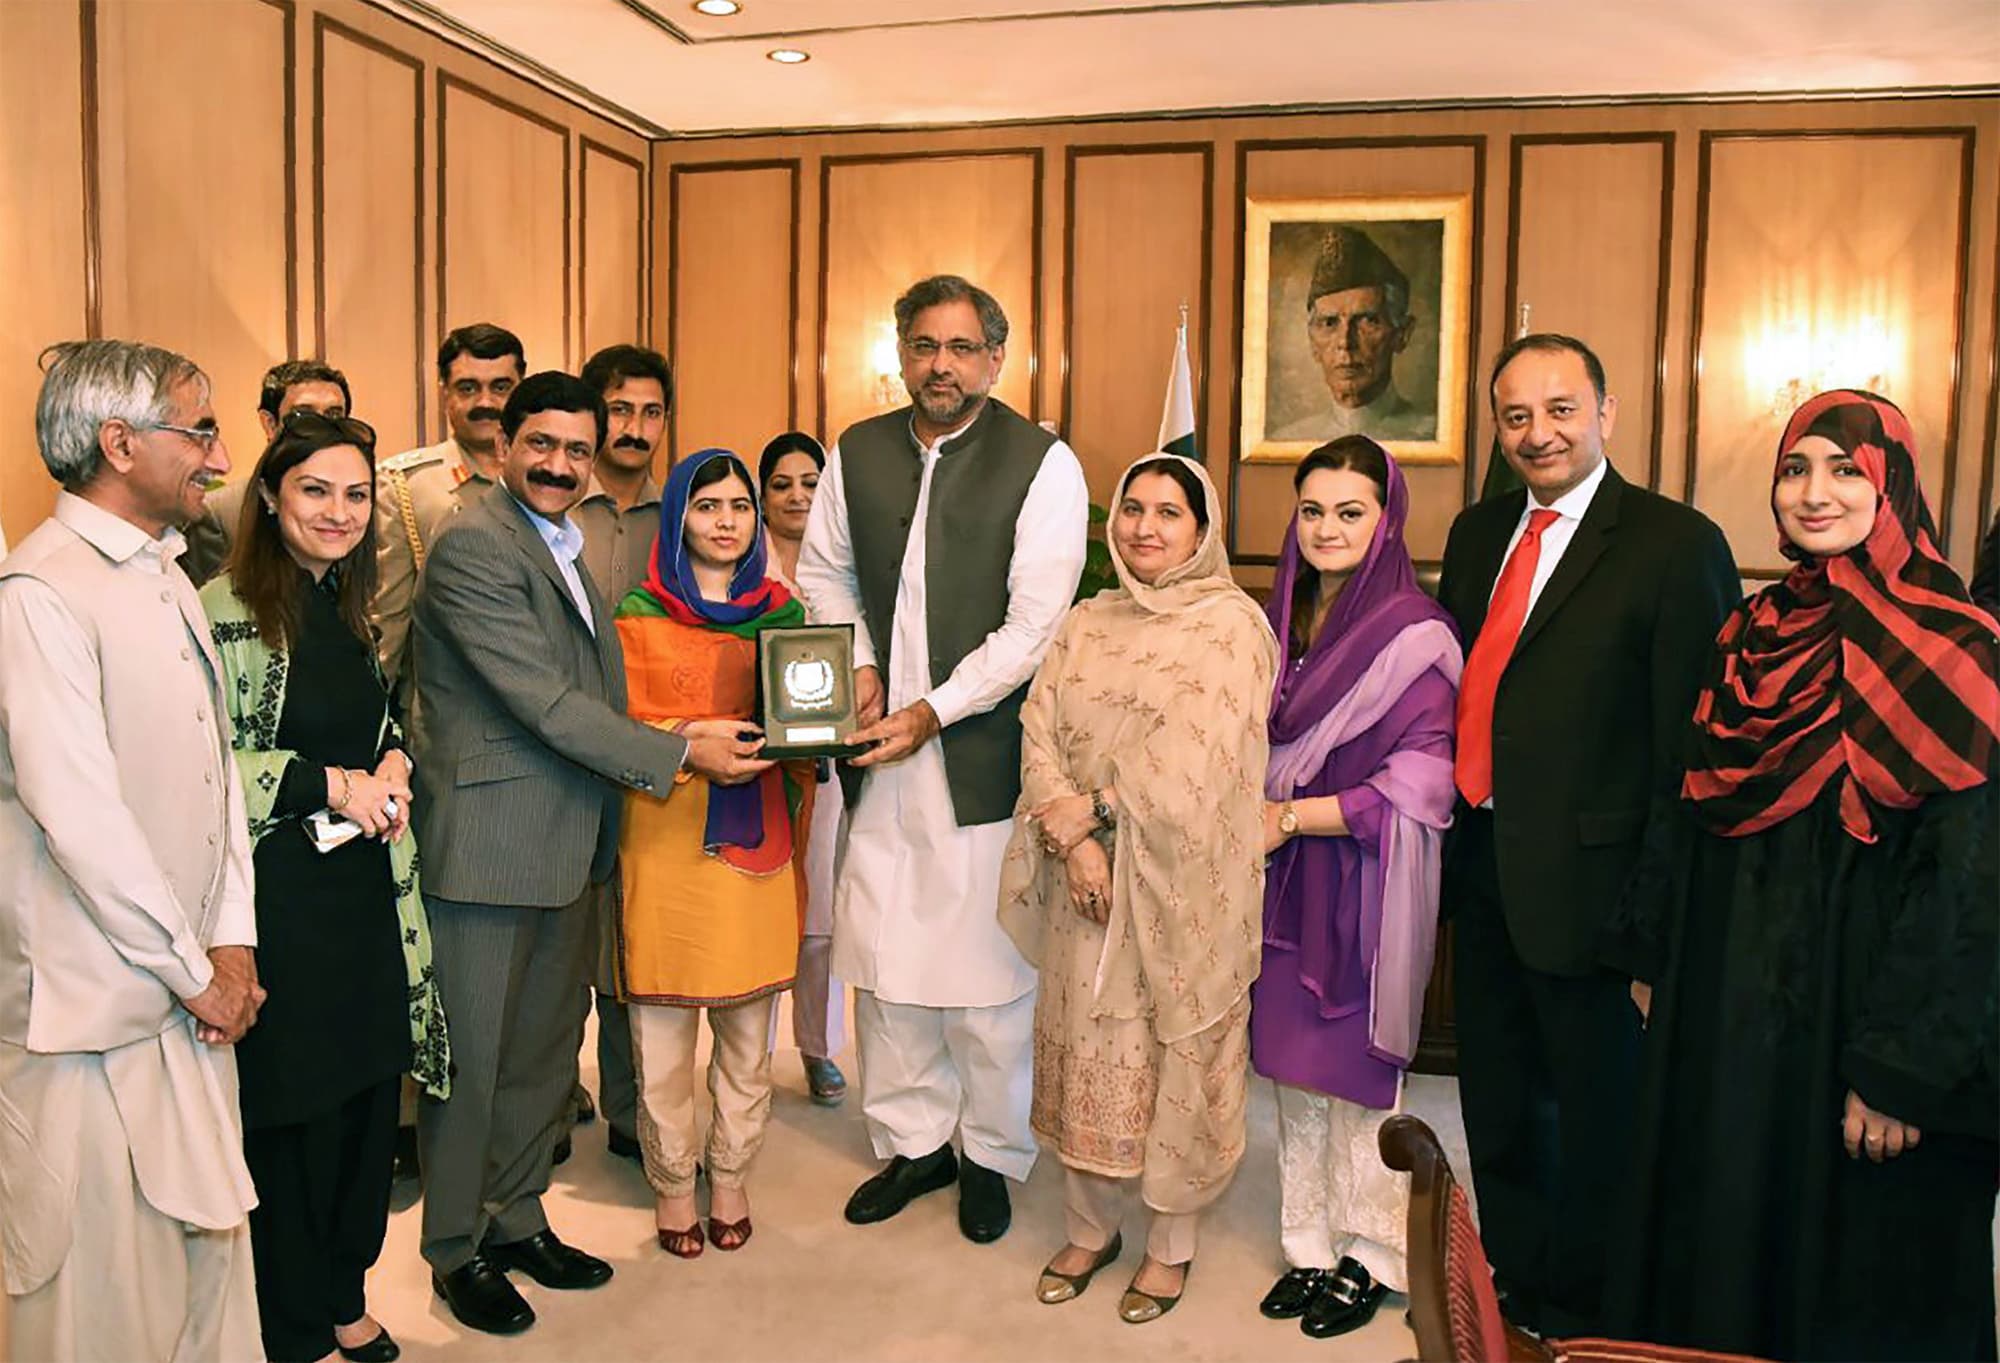
<svg viewBox="0 0 2000 1363">
<path fill-rule="evenodd" d="M 238 1043 L 264 1349 L 386 1363 L 364 1277 L 388 1229 L 398 1079 L 444 1095 L 444 1013 L 408 835 L 410 759 L 376 668 L 374 432 L 294 414 L 226 576 L 202 590 L 256 843 L 258 973 Z M 316 823 L 358 831 L 332 849 Z M 324 841 L 324 839 L 322 839 Z"/>
</svg>

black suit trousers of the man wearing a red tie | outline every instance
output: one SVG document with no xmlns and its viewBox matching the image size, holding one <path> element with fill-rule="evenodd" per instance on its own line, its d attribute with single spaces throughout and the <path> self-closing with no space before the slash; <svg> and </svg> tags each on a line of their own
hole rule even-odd
<svg viewBox="0 0 2000 1363">
<path fill-rule="evenodd" d="M 1632 981 L 1522 963 L 1500 905 L 1492 811 L 1462 809 L 1460 819 L 1446 899 L 1480 1239 L 1510 1317 L 1592 1333 L 1638 1091 Z"/>
</svg>

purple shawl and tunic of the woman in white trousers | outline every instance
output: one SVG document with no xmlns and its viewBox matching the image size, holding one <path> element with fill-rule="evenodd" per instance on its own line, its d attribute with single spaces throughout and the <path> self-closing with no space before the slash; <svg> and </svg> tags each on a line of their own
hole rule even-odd
<svg viewBox="0 0 2000 1363">
<path fill-rule="evenodd" d="M 1286 666 L 1272 697 L 1270 799 L 1374 791 L 1374 837 L 1296 837 L 1276 851 L 1264 885 L 1260 987 L 1310 995 L 1274 1007 L 1290 1021 L 1252 1027 L 1258 1069 L 1280 1081 L 1380 1095 L 1384 1073 L 1416 1053 L 1438 921 L 1442 829 L 1452 813 L 1452 701 L 1462 672 L 1458 634 L 1416 586 L 1404 548 L 1408 488 L 1390 488 L 1368 556 L 1328 614 L 1320 638 Z M 1272 628 L 1290 638 L 1292 584 L 1312 572 L 1286 532 L 1270 600 Z M 1356 805 L 1362 801 L 1356 799 Z M 1356 829 L 1360 833 L 1362 829 Z M 1304 1003 L 1304 999 L 1298 999 Z M 1312 1019 L 1362 1021 L 1366 1055 L 1326 1053 Z M 1348 1027 L 1334 1027 L 1348 1033 Z M 1288 1055 L 1292 1053 L 1292 1055 Z M 1318 1081 L 1314 1081 L 1318 1077 Z M 1346 1093 L 1344 1093 L 1346 1095 Z"/>
</svg>

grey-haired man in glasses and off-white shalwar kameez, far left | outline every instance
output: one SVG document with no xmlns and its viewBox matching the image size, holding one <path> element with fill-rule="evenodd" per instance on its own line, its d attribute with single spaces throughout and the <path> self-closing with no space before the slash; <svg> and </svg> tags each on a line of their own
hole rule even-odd
<svg viewBox="0 0 2000 1363">
<path fill-rule="evenodd" d="M 234 1041 L 250 821 L 176 526 L 230 468 L 208 378 L 50 352 L 56 512 L 0 562 L 0 1257 L 12 1359 L 262 1359 Z"/>
</svg>

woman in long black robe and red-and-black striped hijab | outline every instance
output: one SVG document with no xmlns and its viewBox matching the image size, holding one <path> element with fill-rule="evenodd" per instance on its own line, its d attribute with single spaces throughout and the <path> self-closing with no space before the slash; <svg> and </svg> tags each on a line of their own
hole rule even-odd
<svg viewBox="0 0 2000 1363">
<path fill-rule="evenodd" d="M 1658 967 L 1620 1333 L 1774 1359 L 1992 1359 L 1996 626 L 1938 554 L 1910 424 L 1812 398 L 1792 572 L 1722 628 Z M 1646 913 L 1660 903 L 1664 911 Z"/>
</svg>

